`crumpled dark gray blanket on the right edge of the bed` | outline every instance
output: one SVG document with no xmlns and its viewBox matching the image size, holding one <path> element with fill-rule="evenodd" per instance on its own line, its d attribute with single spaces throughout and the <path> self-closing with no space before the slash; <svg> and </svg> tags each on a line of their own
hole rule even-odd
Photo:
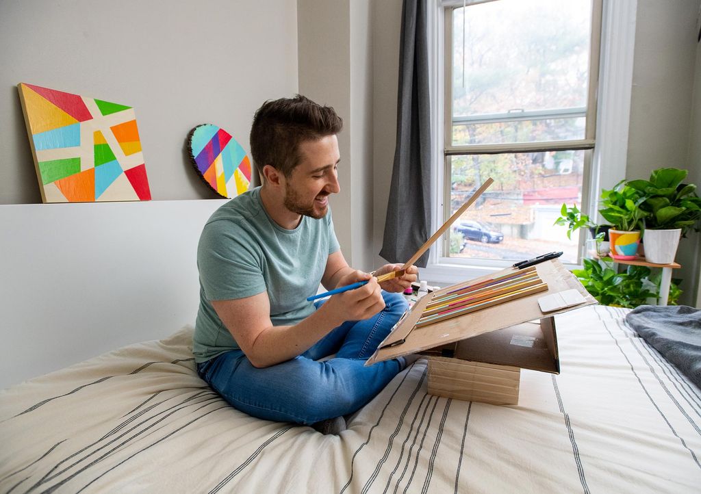
<svg viewBox="0 0 701 494">
<path fill-rule="evenodd" d="M 701 309 L 640 306 L 626 316 L 637 333 L 701 387 Z"/>
</svg>

